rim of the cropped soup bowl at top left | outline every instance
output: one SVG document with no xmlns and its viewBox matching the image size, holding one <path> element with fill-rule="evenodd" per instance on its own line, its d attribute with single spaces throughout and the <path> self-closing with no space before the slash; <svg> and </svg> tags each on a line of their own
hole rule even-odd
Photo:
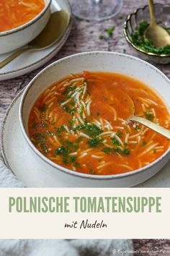
<svg viewBox="0 0 170 256">
<path fill-rule="evenodd" d="M 43 0 L 45 2 L 45 0 Z M 12 30 L 6 30 L 3 32 L 0 32 L 0 37 L 4 36 L 4 35 L 11 35 L 14 34 L 20 30 L 24 30 L 24 28 L 26 27 L 30 27 L 30 25 L 34 24 L 35 22 L 37 22 L 37 20 L 40 20 L 40 17 L 42 17 L 43 14 L 45 14 L 45 12 L 48 10 L 48 8 L 50 7 L 52 0 L 48 0 L 48 3 L 45 3 L 45 7 L 42 9 L 42 11 L 37 14 L 37 16 L 35 16 L 32 20 L 20 25 L 19 27 L 14 27 Z"/>
</svg>

